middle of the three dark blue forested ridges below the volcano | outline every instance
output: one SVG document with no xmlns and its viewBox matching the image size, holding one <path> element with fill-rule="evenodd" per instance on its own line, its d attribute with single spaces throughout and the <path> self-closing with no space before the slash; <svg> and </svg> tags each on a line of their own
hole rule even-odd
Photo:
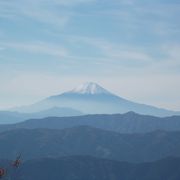
<svg viewBox="0 0 180 180">
<path fill-rule="evenodd" d="M 63 130 L 18 129 L 0 133 L 0 159 L 91 155 L 128 162 L 147 162 L 180 157 L 180 131 L 119 134 L 88 126 Z"/>
</svg>

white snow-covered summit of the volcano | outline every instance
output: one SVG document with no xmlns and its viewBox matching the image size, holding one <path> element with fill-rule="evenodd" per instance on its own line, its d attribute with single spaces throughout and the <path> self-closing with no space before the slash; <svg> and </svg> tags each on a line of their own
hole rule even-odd
<svg viewBox="0 0 180 180">
<path fill-rule="evenodd" d="M 70 91 L 77 94 L 111 94 L 109 91 L 94 82 L 81 84 Z"/>
</svg>

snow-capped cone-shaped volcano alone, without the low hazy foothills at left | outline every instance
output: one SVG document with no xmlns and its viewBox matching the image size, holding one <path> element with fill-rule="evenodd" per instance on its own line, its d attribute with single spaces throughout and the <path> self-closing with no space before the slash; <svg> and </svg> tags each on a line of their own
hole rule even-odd
<svg viewBox="0 0 180 180">
<path fill-rule="evenodd" d="M 110 93 L 96 83 L 85 83 L 71 91 L 48 97 L 30 106 L 16 108 L 19 112 L 36 112 L 52 107 L 70 107 L 84 114 L 114 114 L 134 111 L 140 114 L 169 116 L 180 114 L 145 104 L 135 103 Z"/>
</svg>

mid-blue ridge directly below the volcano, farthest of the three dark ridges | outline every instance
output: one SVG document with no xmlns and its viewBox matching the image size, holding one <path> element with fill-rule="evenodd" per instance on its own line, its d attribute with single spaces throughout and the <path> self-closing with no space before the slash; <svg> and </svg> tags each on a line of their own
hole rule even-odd
<svg viewBox="0 0 180 180">
<path fill-rule="evenodd" d="M 16 128 L 63 129 L 88 125 L 120 133 L 146 133 L 155 130 L 180 131 L 180 116 L 155 117 L 134 112 L 114 115 L 84 115 L 74 117 L 48 117 L 24 122 L 0 125 L 0 132 Z"/>
</svg>

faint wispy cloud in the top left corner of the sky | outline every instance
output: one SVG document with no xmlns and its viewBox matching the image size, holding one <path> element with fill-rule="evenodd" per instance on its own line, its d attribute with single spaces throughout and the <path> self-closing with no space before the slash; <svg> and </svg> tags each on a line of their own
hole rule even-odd
<svg viewBox="0 0 180 180">
<path fill-rule="evenodd" d="M 69 6 L 92 1 L 94 0 L 2 0 L 0 1 L 0 18 L 31 18 L 41 23 L 64 27 L 71 17 Z"/>
</svg>

